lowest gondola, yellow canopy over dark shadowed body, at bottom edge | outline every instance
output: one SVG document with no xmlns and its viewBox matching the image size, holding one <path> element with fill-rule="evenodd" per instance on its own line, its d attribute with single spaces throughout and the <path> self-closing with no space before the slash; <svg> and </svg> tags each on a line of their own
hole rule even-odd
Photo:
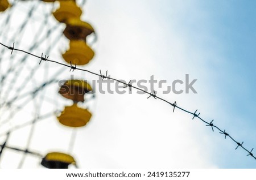
<svg viewBox="0 0 256 180">
<path fill-rule="evenodd" d="M 75 159 L 61 152 L 48 153 L 41 161 L 41 165 L 49 169 L 68 169 L 71 164 L 76 165 Z"/>
</svg>

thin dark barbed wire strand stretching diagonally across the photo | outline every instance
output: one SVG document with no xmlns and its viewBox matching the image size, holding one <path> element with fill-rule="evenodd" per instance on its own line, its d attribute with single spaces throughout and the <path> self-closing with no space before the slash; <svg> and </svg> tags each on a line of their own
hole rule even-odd
<svg viewBox="0 0 256 180">
<path fill-rule="evenodd" d="M 134 88 L 134 89 L 137 89 L 138 91 L 144 92 L 144 93 L 146 93 L 147 95 L 149 95 L 147 98 L 153 97 L 153 98 L 155 98 L 155 99 L 159 99 L 159 100 L 161 100 L 161 101 L 164 101 L 164 102 L 166 102 L 167 104 L 169 104 L 169 105 L 171 105 L 171 106 L 173 107 L 172 112 L 175 111 L 175 108 L 176 108 L 176 109 L 180 109 L 181 111 L 183 111 L 183 112 L 185 112 L 185 113 L 191 114 L 191 115 L 193 116 L 192 119 L 194 119 L 194 118 L 200 119 L 202 122 L 204 122 L 204 123 L 206 124 L 206 126 L 211 127 L 211 128 L 212 128 L 212 131 L 214 131 L 214 128 L 217 129 L 220 134 L 225 135 L 225 136 L 224 136 L 225 139 L 226 139 L 226 137 L 229 137 L 234 143 L 237 144 L 236 149 L 237 149 L 238 147 L 241 147 L 242 149 L 244 149 L 244 150 L 248 153 L 246 156 L 251 156 L 251 157 L 253 157 L 253 158 L 256 160 L 256 157 L 255 157 L 255 156 L 253 155 L 253 153 L 252 153 L 254 148 L 252 148 L 251 151 L 249 151 L 248 149 L 246 149 L 246 148 L 244 147 L 243 142 L 242 142 L 242 143 L 238 142 L 238 141 L 235 140 L 230 134 L 228 134 L 228 132 L 226 132 L 226 130 L 221 130 L 221 128 L 219 128 L 219 127 L 217 127 L 216 125 L 214 125 L 214 124 L 213 124 L 213 120 L 210 121 L 210 122 L 207 122 L 207 121 L 205 121 L 203 118 L 201 118 L 201 117 L 199 116 L 200 113 L 197 113 L 197 110 L 195 110 L 195 112 L 190 112 L 189 110 L 183 109 L 183 108 L 181 108 L 180 106 L 178 106 L 176 101 L 172 103 L 172 102 L 170 102 L 170 101 L 165 100 L 164 98 L 161 98 L 161 97 L 157 96 L 156 93 L 155 93 L 155 91 L 153 91 L 153 92 L 147 92 L 147 91 L 145 91 L 144 89 L 138 88 L 138 87 L 136 87 L 136 86 L 130 84 L 130 82 L 129 82 L 129 83 L 126 83 L 126 82 L 122 82 L 121 80 L 118 80 L 118 79 L 115 79 L 115 78 L 110 78 L 110 76 L 108 76 L 108 71 L 106 71 L 106 75 L 102 74 L 102 73 L 101 73 L 101 70 L 100 70 L 100 74 L 98 74 L 98 73 L 96 73 L 96 72 L 92 72 L 92 71 L 89 71 L 89 70 L 86 70 L 86 69 L 83 69 L 83 68 L 78 68 L 76 65 L 73 66 L 72 63 L 71 63 L 70 65 L 67 65 L 67 64 L 64 64 L 64 63 L 61 63 L 61 62 L 53 61 L 53 60 L 49 59 L 49 55 L 44 55 L 43 53 L 39 56 L 39 55 L 30 53 L 30 52 L 27 52 L 26 50 L 16 49 L 14 43 L 13 43 L 13 46 L 7 46 L 7 45 L 5 45 L 5 44 L 2 44 L 2 42 L 0 42 L 0 44 L 1 44 L 2 46 L 5 46 L 5 48 L 11 50 L 11 54 L 13 54 L 14 51 L 23 52 L 23 53 L 26 53 L 26 54 L 28 54 L 28 55 L 31 55 L 31 56 L 34 56 L 34 57 L 40 59 L 39 65 L 40 65 L 40 63 L 42 63 L 42 61 L 48 61 L 48 62 L 56 63 L 56 64 L 61 65 L 61 66 L 68 67 L 68 68 L 70 68 L 69 71 L 71 71 L 71 70 L 72 70 L 72 71 L 75 71 L 75 70 L 85 71 L 85 72 L 88 72 L 88 73 L 90 73 L 90 74 L 93 74 L 93 75 L 96 75 L 96 76 L 101 77 L 102 80 L 104 80 L 104 79 L 110 79 L 110 80 L 114 80 L 115 82 L 122 83 L 123 85 L 125 85 L 123 88 L 129 87 L 130 89 L 131 89 L 131 88 Z"/>
</svg>

